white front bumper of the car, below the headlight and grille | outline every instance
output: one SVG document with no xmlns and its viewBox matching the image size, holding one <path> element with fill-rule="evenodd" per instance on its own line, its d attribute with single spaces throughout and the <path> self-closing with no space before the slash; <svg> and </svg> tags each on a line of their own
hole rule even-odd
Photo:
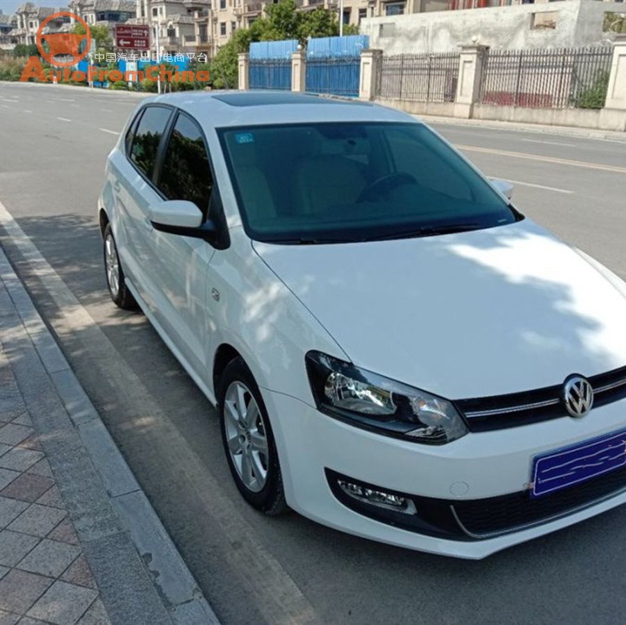
<svg viewBox="0 0 626 625">
<path fill-rule="evenodd" d="M 484 558 L 626 503 L 626 492 L 616 488 L 583 506 L 576 504 L 564 513 L 543 517 L 541 522 L 522 523 L 505 531 L 478 535 L 457 524 L 449 532 L 451 528 L 445 524 L 445 531 L 422 533 L 420 528 L 394 526 L 348 507 L 333 494 L 327 476 L 330 469 L 382 489 L 414 495 L 418 507 L 420 498 L 461 510 L 476 508 L 480 499 L 493 503 L 509 494 L 524 497 L 536 454 L 623 428 L 626 401 L 595 409 L 584 419 L 565 417 L 470 433 L 450 444 L 429 447 L 354 428 L 283 394 L 264 390 L 263 399 L 272 418 L 289 505 L 308 518 L 348 533 L 420 551 Z"/>
</svg>

